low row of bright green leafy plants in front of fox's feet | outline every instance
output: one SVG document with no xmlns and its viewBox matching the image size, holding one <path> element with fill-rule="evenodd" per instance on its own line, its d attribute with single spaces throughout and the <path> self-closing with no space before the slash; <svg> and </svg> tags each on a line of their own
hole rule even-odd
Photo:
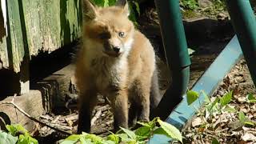
<svg viewBox="0 0 256 144">
<path fill-rule="evenodd" d="M 149 141 L 153 134 L 166 135 L 168 138 L 173 138 L 182 142 L 182 134 L 179 130 L 167 122 L 163 122 L 160 118 L 154 118 L 150 122 L 138 122 L 142 125 L 136 130 L 128 130 L 121 128 L 117 134 L 111 133 L 110 135 L 102 138 L 94 134 L 73 134 L 64 139 L 61 144 L 81 143 L 96 143 L 96 144 L 118 144 L 118 143 L 146 143 Z M 158 127 L 159 124 L 161 127 Z"/>
</svg>

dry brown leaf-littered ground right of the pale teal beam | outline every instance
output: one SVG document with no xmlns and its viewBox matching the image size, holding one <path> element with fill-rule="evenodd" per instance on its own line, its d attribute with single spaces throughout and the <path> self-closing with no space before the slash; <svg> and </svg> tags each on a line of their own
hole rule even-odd
<svg viewBox="0 0 256 144">
<path fill-rule="evenodd" d="M 254 126 L 243 125 L 239 122 L 238 112 L 242 111 L 251 122 L 256 120 L 256 103 L 248 102 L 248 94 L 256 94 L 254 84 L 250 78 L 250 73 L 246 62 L 242 59 L 226 75 L 218 90 L 211 98 L 220 98 L 231 90 L 234 91 L 230 107 L 236 109 L 234 112 L 224 112 L 215 114 L 210 120 L 203 115 L 195 116 L 186 128 L 182 130 L 184 135 L 184 143 L 211 143 L 213 138 L 216 138 L 220 143 L 255 143 L 256 130 Z M 202 128 L 202 126 L 205 126 Z"/>
</svg>

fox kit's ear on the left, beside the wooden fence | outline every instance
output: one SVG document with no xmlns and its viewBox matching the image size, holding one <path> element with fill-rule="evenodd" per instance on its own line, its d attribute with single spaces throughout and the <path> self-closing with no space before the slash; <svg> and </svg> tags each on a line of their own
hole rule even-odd
<svg viewBox="0 0 256 144">
<path fill-rule="evenodd" d="M 96 18 L 97 11 L 93 3 L 90 0 L 83 0 L 83 18 L 86 21 L 93 20 Z"/>
</svg>

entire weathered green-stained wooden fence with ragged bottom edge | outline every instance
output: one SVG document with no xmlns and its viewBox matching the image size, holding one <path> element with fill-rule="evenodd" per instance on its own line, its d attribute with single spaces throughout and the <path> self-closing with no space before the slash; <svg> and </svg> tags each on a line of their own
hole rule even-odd
<svg viewBox="0 0 256 144">
<path fill-rule="evenodd" d="M 81 35 L 82 0 L 2 1 L 8 22 L 6 34 L 0 9 L 0 69 L 18 73 L 23 58 L 50 53 Z"/>
</svg>

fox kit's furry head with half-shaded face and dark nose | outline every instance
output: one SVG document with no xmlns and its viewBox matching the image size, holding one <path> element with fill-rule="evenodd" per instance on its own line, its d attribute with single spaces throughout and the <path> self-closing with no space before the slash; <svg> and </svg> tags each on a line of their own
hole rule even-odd
<svg viewBox="0 0 256 144">
<path fill-rule="evenodd" d="M 134 25 L 128 18 L 126 0 L 119 0 L 116 6 L 106 8 L 84 0 L 83 6 L 83 42 L 86 49 L 114 58 L 128 54 L 133 43 Z"/>
</svg>

